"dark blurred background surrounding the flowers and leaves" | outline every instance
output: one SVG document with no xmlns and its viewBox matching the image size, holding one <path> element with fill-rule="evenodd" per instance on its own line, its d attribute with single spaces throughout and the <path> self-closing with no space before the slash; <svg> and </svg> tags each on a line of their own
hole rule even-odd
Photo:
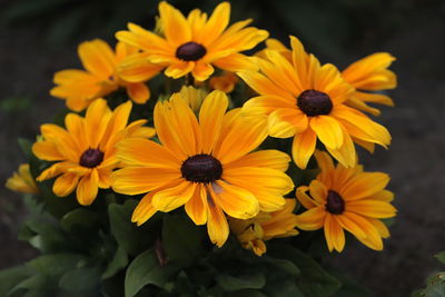
<svg viewBox="0 0 445 297">
<path fill-rule="evenodd" d="M 49 96 L 57 70 L 80 67 L 79 42 L 102 38 L 128 21 L 154 28 L 154 0 L 0 0 L 0 269 L 36 251 L 17 240 L 26 208 L 2 185 L 24 161 L 17 139 L 33 140 L 39 125 L 65 107 Z M 170 1 L 184 12 L 210 12 L 216 0 Z M 368 170 L 392 176 L 399 212 L 383 253 L 358 242 L 330 264 L 375 296 L 409 296 L 443 269 L 433 255 L 445 249 L 445 2 L 442 0 L 233 1 L 231 20 L 254 24 L 287 42 L 298 36 L 323 62 L 340 69 L 376 51 L 397 57 L 396 108 L 377 119 L 389 128 L 389 151 L 360 154 Z"/>
</svg>

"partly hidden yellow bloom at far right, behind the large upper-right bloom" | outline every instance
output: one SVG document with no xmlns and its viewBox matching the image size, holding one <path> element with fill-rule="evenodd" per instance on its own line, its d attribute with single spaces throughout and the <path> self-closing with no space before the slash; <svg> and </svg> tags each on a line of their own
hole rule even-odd
<svg viewBox="0 0 445 297">
<path fill-rule="evenodd" d="M 346 103 L 375 116 L 380 115 L 380 111 L 369 107 L 368 102 L 394 106 L 388 96 L 364 91 L 382 91 L 394 89 L 397 86 L 396 75 L 387 69 L 395 59 L 387 52 L 376 52 L 343 70 L 343 78 L 357 89 Z"/>
</svg>

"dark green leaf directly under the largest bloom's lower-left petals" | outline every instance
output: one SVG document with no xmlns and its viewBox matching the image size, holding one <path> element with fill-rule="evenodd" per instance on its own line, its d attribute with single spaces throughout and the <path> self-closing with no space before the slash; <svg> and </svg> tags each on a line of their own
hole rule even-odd
<svg viewBox="0 0 445 297">
<path fill-rule="evenodd" d="M 150 240 L 150 232 L 131 222 L 131 214 L 136 205 L 136 200 L 129 199 L 123 205 L 111 204 L 108 206 L 111 232 L 119 247 L 122 247 L 129 255 L 138 255 L 148 247 Z"/>
</svg>

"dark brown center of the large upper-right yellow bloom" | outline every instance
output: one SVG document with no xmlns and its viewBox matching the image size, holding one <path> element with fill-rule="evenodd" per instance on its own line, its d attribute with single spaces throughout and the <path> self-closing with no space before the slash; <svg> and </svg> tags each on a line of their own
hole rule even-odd
<svg viewBox="0 0 445 297">
<path fill-rule="evenodd" d="M 316 90 L 301 92 L 297 98 L 297 106 L 309 117 L 329 115 L 333 110 L 333 101 L 329 96 Z"/>
</svg>

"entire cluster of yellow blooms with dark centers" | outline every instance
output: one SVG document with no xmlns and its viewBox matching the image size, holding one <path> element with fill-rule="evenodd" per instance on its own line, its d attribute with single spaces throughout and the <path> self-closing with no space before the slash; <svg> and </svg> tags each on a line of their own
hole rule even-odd
<svg viewBox="0 0 445 297">
<path fill-rule="evenodd" d="M 266 240 L 322 228 L 329 251 L 344 249 L 344 230 L 383 249 L 389 231 L 382 219 L 396 215 L 389 178 L 365 172 L 355 145 L 389 146 L 387 129 L 364 112 L 380 113 L 368 103 L 393 105 L 375 91 L 396 86 L 387 69 L 394 57 L 374 53 L 339 71 L 294 36 L 287 48 L 251 20 L 229 19 L 228 2 L 209 17 L 160 2 L 156 30 L 129 23 L 115 50 L 99 39 L 81 43 L 85 70 L 53 78 L 51 95 L 73 112 L 41 126 L 32 152 L 48 164 L 36 168 L 37 185 L 56 178 L 53 194 L 76 191 L 82 206 L 105 190 L 135 196 L 138 226 L 184 210 L 216 246 L 233 234 L 258 256 Z M 264 50 L 245 53 L 263 41 Z M 151 87 L 155 77 L 168 87 Z M 119 89 L 120 101 L 111 96 Z M 293 141 L 284 148 L 276 138 Z M 307 168 L 319 174 L 306 186 Z M 29 168 L 19 172 L 8 187 L 38 192 Z"/>
</svg>

